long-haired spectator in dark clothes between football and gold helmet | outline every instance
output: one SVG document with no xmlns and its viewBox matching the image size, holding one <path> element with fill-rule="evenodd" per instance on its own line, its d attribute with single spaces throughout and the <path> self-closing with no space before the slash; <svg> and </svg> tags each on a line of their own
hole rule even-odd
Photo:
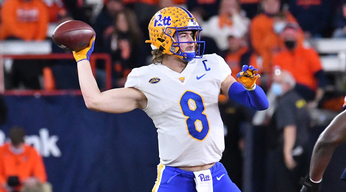
<svg viewBox="0 0 346 192">
<path fill-rule="evenodd" d="M 127 75 L 133 68 L 140 67 L 138 54 L 144 44 L 133 11 L 119 11 L 115 17 L 112 33 L 105 38 L 104 50 L 112 56 L 112 78 L 115 80 L 113 87 L 124 87 Z M 102 74 L 99 75 L 103 77 Z"/>
</svg>

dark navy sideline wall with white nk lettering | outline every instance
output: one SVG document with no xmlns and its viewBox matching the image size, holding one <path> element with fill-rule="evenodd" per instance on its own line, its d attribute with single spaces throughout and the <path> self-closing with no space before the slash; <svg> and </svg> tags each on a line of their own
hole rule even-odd
<svg viewBox="0 0 346 192">
<path fill-rule="evenodd" d="M 4 96 L 8 120 L 44 157 L 54 192 L 151 191 L 159 163 L 157 133 L 140 109 L 110 114 L 87 109 L 81 95 Z M 0 143 L 1 144 L 1 143 Z"/>
</svg>

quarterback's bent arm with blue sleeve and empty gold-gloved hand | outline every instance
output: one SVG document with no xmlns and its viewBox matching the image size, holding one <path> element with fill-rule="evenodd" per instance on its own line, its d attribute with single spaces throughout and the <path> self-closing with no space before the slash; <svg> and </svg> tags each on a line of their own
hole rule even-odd
<svg viewBox="0 0 346 192">
<path fill-rule="evenodd" d="M 246 72 L 248 69 L 243 68 L 241 72 L 244 72 L 244 70 Z M 235 102 L 258 111 L 267 109 L 269 106 L 268 99 L 263 89 L 260 86 L 256 86 L 255 84 L 258 77 L 255 77 L 254 79 L 254 75 L 246 76 L 245 73 L 242 73 L 242 81 L 239 80 L 242 83 L 238 83 L 231 75 L 228 75 L 226 79 L 221 83 L 221 94 L 225 95 L 229 99 L 234 100 Z"/>
</svg>

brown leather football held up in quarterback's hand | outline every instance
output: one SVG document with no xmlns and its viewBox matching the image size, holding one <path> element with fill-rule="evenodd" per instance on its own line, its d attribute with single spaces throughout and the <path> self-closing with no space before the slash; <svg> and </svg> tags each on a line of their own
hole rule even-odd
<svg viewBox="0 0 346 192">
<path fill-rule="evenodd" d="M 89 46 L 93 36 L 95 31 L 88 23 L 70 20 L 56 27 L 52 38 L 60 48 L 78 52 Z"/>
</svg>

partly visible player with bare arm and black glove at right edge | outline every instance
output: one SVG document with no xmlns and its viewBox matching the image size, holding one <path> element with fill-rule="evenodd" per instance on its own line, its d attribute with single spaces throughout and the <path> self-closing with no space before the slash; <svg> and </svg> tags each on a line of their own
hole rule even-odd
<svg viewBox="0 0 346 192">
<path fill-rule="evenodd" d="M 300 192 L 318 192 L 322 184 L 322 176 L 333 156 L 337 146 L 346 141 L 346 97 L 343 105 L 344 111 L 338 114 L 327 128 L 320 134 L 313 147 L 310 172 L 301 179 L 303 185 Z M 341 179 L 346 181 L 346 169 Z"/>
</svg>

